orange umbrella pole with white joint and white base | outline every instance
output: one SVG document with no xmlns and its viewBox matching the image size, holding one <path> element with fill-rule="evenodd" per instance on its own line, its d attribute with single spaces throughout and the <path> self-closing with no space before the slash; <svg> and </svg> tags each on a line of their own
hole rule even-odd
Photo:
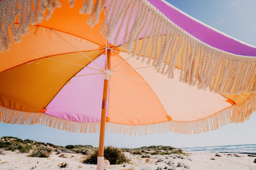
<svg viewBox="0 0 256 170">
<path fill-rule="evenodd" d="M 106 114 L 107 114 L 107 98 L 109 95 L 110 53 L 111 53 L 111 49 L 107 49 L 106 70 L 103 73 L 104 74 L 104 90 L 103 90 L 103 97 L 102 97 L 100 143 L 99 143 L 99 155 L 97 158 L 97 170 L 102 170 L 104 166 L 104 139 L 105 139 L 105 125 L 106 125 Z"/>
</svg>

